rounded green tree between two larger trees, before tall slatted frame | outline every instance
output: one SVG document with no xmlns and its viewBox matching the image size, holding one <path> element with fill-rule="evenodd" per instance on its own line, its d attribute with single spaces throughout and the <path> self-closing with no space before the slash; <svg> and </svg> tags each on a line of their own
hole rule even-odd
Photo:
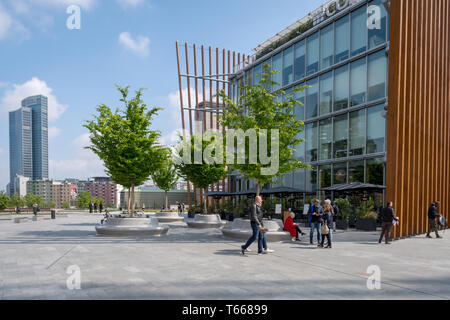
<svg viewBox="0 0 450 320">
<path fill-rule="evenodd" d="M 201 143 L 196 143 L 196 141 L 201 141 Z M 205 189 L 203 213 L 207 214 L 207 188 L 211 184 L 217 183 L 227 176 L 227 167 L 225 164 L 223 164 L 223 143 L 217 137 L 211 137 L 211 139 L 208 141 L 206 139 L 202 139 L 202 137 L 180 136 L 180 144 L 178 145 L 178 147 L 179 149 L 175 165 L 177 171 L 182 178 L 187 181 L 191 181 L 197 188 Z M 215 147 L 222 149 L 219 150 Z M 186 158 L 186 155 L 183 154 L 183 149 L 191 152 L 190 158 L 195 158 L 195 153 L 201 152 L 201 154 L 204 155 L 205 151 L 209 150 L 212 158 L 216 158 L 216 160 L 220 160 L 218 158 L 222 159 L 221 161 L 209 161 L 208 159 L 205 160 L 205 156 L 203 156 L 202 159 L 197 162 L 194 161 L 194 163 L 187 163 L 185 160 L 183 160 L 183 158 Z M 220 153 L 218 151 L 222 152 Z M 222 164 L 220 162 L 222 162 Z"/>
</svg>

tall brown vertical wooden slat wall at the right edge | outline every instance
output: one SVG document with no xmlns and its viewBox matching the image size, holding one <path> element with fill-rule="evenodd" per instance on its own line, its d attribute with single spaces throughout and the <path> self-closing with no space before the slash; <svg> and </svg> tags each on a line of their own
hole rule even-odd
<svg viewBox="0 0 450 320">
<path fill-rule="evenodd" d="M 450 214 L 450 0 L 391 0 L 390 16 L 386 199 L 405 237 L 432 202 Z"/>
</svg>

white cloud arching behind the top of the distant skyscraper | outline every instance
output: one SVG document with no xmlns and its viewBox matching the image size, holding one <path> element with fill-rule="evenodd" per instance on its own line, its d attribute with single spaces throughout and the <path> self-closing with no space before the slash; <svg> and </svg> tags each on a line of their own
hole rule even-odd
<svg viewBox="0 0 450 320">
<path fill-rule="evenodd" d="M 53 89 L 45 81 L 36 77 L 23 84 L 14 84 L 13 89 L 6 90 L 0 101 L 0 112 L 17 110 L 21 106 L 21 101 L 29 96 L 44 95 L 48 98 L 48 119 L 49 121 L 58 119 L 68 108 L 67 105 L 60 104 Z"/>
</svg>

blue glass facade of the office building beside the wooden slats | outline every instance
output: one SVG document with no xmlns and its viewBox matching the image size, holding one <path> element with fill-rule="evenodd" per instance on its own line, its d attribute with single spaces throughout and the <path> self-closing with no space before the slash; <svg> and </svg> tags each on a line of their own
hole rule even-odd
<svg viewBox="0 0 450 320">
<path fill-rule="evenodd" d="M 312 170 L 297 170 L 278 183 L 311 197 L 337 184 L 385 185 L 389 15 L 381 0 L 347 4 L 232 79 L 235 101 L 244 84 L 259 81 L 266 63 L 280 72 L 273 75 L 279 83 L 274 92 L 309 86 L 295 96 L 303 103 L 295 116 L 305 123 L 306 140 L 296 158 Z"/>
</svg>

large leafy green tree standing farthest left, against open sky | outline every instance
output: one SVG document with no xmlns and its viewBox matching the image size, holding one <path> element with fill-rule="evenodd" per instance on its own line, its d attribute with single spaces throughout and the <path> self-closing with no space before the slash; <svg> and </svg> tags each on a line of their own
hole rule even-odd
<svg viewBox="0 0 450 320">
<path fill-rule="evenodd" d="M 112 180 L 129 190 L 128 213 L 134 217 L 134 188 L 147 181 L 164 160 L 164 149 L 158 144 L 159 131 L 151 130 L 153 116 L 159 108 L 148 109 L 142 100 L 142 91 L 128 100 L 129 86 L 117 86 L 125 109 L 111 108 L 102 104 L 98 115 L 87 121 L 92 150 L 102 161 Z"/>
</svg>

